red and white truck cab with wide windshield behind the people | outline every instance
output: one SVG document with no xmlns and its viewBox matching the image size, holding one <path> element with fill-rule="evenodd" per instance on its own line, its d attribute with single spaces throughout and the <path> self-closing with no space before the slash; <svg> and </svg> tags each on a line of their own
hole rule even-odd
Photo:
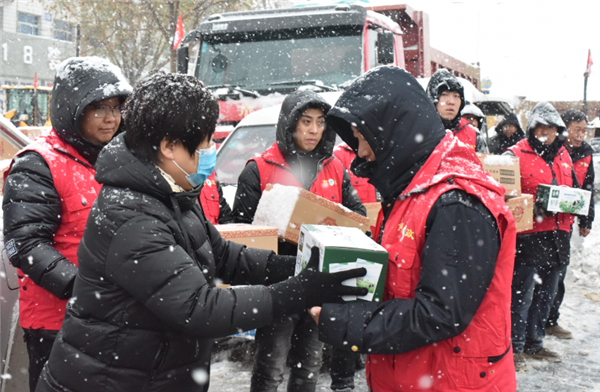
<svg viewBox="0 0 600 392">
<path fill-rule="evenodd" d="M 358 5 L 212 15 L 178 51 L 178 71 L 218 97 L 221 126 L 281 103 L 299 88 L 336 91 L 382 64 L 404 68 L 402 30 Z"/>
</svg>

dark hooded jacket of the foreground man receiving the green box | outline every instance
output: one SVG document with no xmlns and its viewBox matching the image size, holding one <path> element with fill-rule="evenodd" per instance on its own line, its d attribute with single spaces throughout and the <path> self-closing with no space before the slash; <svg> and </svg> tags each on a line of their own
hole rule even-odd
<svg viewBox="0 0 600 392">
<path fill-rule="evenodd" d="M 358 152 L 351 129 L 356 127 L 375 153 L 376 161 L 356 158 L 353 166 L 368 173 L 384 197 L 380 231 L 388 230 L 385 224 L 396 198 L 446 134 L 435 107 L 412 75 L 382 66 L 354 81 L 329 111 L 327 122 Z M 430 210 L 426 235 L 414 298 L 325 304 L 319 338 L 339 348 L 348 349 L 352 340 L 363 352 L 398 354 L 461 333 L 494 275 L 500 247 L 496 222 L 479 199 L 452 190 Z M 478 245 L 482 240 L 488 246 Z M 468 290 L 458 288 L 464 274 L 473 282 Z"/>
</svg>

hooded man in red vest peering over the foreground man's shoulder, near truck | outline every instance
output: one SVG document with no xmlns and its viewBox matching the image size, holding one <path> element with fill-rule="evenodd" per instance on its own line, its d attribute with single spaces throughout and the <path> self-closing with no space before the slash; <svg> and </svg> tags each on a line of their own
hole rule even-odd
<svg viewBox="0 0 600 392">
<path fill-rule="evenodd" d="M 451 130 L 461 142 L 477 152 L 489 153 L 479 130 L 460 113 L 465 107 L 465 91 L 456 76 L 447 69 L 438 69 L 429 79 L 427 95 L 434 103 L 444 128 Z"/>
</svg>

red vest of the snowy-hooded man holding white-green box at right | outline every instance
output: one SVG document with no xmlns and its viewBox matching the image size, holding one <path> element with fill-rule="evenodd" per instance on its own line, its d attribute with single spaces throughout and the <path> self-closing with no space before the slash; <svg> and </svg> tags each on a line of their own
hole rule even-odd
<svg viewBox="0 0 600 392">
<path fill-rule="evenodd" d="M 558 150 L 554 162 L 552 162 L 552 168 L 531 148 L 527 139 L 522 139 L 510 147 L 509 150 L 519 158 L 522 193 L 536 195 L 538 185 L 550 185 L 552 184 L 552 178 L 556 178 L 558 185 L 573 186 L 571 156 L 566 148 L 561 147 Z M 545 217 L 541 221 L 535 218 L 533 229 L 519 234 L 553 230 L 563 230 L 570 233 L 574 219 L 573 215 L 563 213 Z"/>
</svg>

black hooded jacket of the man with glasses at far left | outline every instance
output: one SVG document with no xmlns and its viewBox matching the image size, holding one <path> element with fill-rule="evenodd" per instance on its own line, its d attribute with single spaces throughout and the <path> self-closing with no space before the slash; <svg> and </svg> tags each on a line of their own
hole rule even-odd
<svg viewBox="0 0 600 392">
<path fill-rule="evenodd" d="M 108 61 L 97 57 L 66 60 L 57 70 L 52 90 L 52 126 L 93 164 L 103 146 L 82 138 L 79 129 L 83 110 L 92 102 L 111 97 L 124 100 L 130 92 L 121 70 Z M 79 164 L 70 158 L 73 165 Z M 61 299 L 71 296 L 77 273 L 76 267 L 53 247 L 54 234 L 61 225 L 60 200 L 65 196 L 58 194 L 50 168 L 40 154 L 28 151 L 15 157 L 2 204 L 4 240 L 14 240 L 19 246 L 11 263 Z M 35 262 L 28 262 L 30 259 Z"/>
</svg>

